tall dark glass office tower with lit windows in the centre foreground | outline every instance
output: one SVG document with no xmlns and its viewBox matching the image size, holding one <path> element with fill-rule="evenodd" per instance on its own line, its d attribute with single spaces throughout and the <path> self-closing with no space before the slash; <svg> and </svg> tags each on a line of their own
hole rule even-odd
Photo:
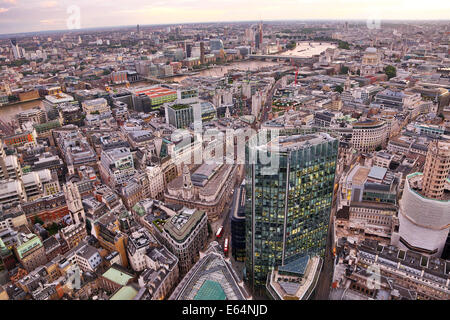
<svg viewBox="0 0 450 320">
<path fill-rule="evenodd" d="M 245 277 L 254 292 L 262 292 L 275 266 L 305 254 L 324 256 L 333 199 L 338 139 L 315 133 L 275 140 L 265 149 L 279 156 L 275 174 L 265 175 L 259 158 L 246 165 Z M 279 149 L 271 150 L 274 145 Z"/>
</svg>

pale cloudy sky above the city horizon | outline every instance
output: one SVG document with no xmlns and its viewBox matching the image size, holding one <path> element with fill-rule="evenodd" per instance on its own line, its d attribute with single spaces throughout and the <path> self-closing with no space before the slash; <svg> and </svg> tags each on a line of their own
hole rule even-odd
<svg viewBox="0 0 450 320">
<path fill-rule="evenodd" d="M 254 20 L 446 20 L 449 0 L 0 0 L 0 34 Z"/>
</svg>

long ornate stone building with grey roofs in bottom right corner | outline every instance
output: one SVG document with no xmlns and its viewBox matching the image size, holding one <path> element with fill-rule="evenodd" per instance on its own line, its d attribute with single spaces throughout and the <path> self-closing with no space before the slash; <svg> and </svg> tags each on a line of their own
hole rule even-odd
<svg viewBox="0 0 450 320">
<path fill-rule="evenodd" d="M 351 254 L 349 254 L 351 252 Z M 339 300 L 448 300 L 448 262 L 365 240 L 338 241 Z M 349 286 L 345 288 L 345 283 Z"/>
</svg>

